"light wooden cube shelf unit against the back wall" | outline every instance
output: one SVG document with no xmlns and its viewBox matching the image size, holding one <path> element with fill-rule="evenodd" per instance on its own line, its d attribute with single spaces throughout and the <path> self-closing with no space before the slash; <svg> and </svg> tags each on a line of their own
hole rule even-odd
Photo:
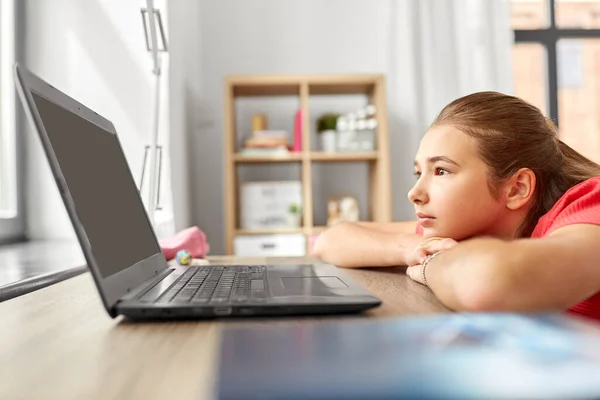
<svg viewBox="0 0 600 400">
<path fill-rule="evenodd" d="M 377 148 L 372 152 L 326 153 L 313 151 L 311 146 L 311 95 L 356 95 L 368 97 L 377 108 Z M 240 97 L 298 96 L 302 109 L 302 152 L 275 156 L 248 156 L 236 147 L 235 101 Z M 369 165 L 369 208 L 372 221 L 391 220 L 391 179 L 389 132 L 386 106 L 385 77 L 378 74 L 358 75 L 236 75 L 225 82 L 225 241 L 226 254 L 233 255 L 233 241 L 239 235 L 303 233 L 310 236 L 325 227 L 313 226 L 312 163 L 367 162 Z M 238 166 L 242 164 L 299 163 L 302 182 L 302 221 L 297 229 L 243 230 L 239 228 Z"/>
</svg>

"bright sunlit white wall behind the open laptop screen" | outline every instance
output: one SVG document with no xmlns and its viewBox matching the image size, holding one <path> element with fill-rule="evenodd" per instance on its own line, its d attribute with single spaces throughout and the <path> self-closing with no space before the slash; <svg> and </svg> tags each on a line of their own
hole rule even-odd
<svg viewBox="0 0 600 400">
<path fill-rule="evenodd" d="M 165 3 L 155 0 L 166 24 Z M 26 0 L 24 5 L 24 65 L 113 122 L 138 183 L 143 149 L 150 144 L 154 95 L 140 14 L 145 6 L 143 0 Z M 163 60 L 161 143 L 169 111 L 168 59 Z M 27 143 L 28 234 L 34 239 L 74 238 L 39 138 L 31 130 Z M 144 186 L 148 188 L 147 180 Z M 163 190 L 168 193 L 166 185 Z M 169 201 L 169 196 L 161 197 Z"/>
</svg>

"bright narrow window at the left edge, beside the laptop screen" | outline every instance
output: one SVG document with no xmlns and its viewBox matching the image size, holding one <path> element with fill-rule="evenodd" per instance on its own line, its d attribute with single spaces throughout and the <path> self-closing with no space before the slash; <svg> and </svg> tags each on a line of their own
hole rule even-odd
<svg viewBox="0 0 600 400">
<path fill-rule="evenodd" d="M 16 99 L 12 78 L 15 60 L 15 1 L 0 1 L 0 242 L 24 235 L 19 207 L 20 146 L 16 135 Z"/>
</svg>

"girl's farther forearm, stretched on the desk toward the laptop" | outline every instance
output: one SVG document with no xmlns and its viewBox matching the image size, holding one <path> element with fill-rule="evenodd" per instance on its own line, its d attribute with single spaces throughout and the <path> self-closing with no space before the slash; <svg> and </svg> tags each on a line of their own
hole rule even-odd
<svg viewBox="0 0 600 400">
<path fill-rule="evenodd" d="M 321 233 L 313 254 L 339 267 L 407 265 L 423 237 L 416 222 L 343 222 Z"/>
</svg>

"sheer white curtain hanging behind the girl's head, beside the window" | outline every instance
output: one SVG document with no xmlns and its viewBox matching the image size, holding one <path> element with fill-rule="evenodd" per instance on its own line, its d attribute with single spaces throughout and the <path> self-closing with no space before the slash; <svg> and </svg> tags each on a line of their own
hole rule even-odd
<svg viewBox="0 0 600 400">
<path fill-rule="evenodd" d="M 392 0 L 388 109 L 394 219 L 412 219 L 412 159 L 442 108 L 463 95 L 513 94 L 509 0 Z"/>
</svg>

